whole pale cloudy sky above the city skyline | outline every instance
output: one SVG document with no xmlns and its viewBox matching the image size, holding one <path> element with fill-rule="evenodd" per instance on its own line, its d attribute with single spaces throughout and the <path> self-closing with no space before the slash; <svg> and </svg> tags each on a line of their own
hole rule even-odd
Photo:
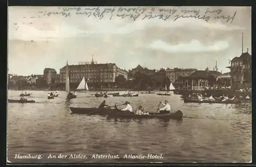
<svg viewBox="0 0 256 167">
<path fill-rule="evenodd" d="M 98 63 L 116 63 L 125 70 L 137 65 L 213 70 L 217 61 L 224 73 L 229 60 L 242 53 L 242 33 L 244 52 L 248 48 L 251 54 L 250 7 L 96 8 L 9 7 L 8 73 L 42 74 L 45 68 L 59 73 L 67 60 L 78 64 L 91 61 L 92 55 Z M 101 19 L 89 16 L 103 11 Z M 138 14 L 136 20 L 130 17 Z M 160 14 L 170 16 L 163 20 Z"/>
</svg>

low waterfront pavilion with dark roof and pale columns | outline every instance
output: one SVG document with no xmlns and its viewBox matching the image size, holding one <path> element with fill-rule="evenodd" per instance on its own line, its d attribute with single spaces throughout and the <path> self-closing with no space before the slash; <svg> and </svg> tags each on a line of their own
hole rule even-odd
<svg viewBox="0 0 256 167">
<path fill-rule="evenodd" d="M 179 81 L 182 83 L 182 89 L 203 90 L 205 87 L 215 87 L 218 84 L 218 76 L 222 73 L 210 71 L 208 68 L 197 70 L 189 76 L 181 76 Z"/>
</svg>

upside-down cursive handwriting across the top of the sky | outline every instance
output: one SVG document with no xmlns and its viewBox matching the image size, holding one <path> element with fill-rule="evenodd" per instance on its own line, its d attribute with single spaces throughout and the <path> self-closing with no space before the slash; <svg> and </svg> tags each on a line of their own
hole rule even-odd
<svg viewBox="0 0 256 167">
<path fill-rule="evenodd" d="M 93 17 L 97 19 L 127 19 L 127 20 L 173 20 L 178 19 L 199 19 L 205 22 L 210 20 L 224 20 L 226 22 L 233 22 L 237 12 L 223 14 L 222 9 L 210 8 L 187 10 L 180 7 L 163 8 L 163 7 L 59 7 L 56 11 L 39 11 L 42 17 L 51 17 L 53 15 L 72 17 L 74 15 L 85 16 L 87 18 Z M 39 16 L 40 17 L 40 16 Z"/>
</svg>

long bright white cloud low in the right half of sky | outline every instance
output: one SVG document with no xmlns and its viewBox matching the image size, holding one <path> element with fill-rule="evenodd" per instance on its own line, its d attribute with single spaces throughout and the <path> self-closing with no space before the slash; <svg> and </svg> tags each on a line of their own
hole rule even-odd
<svg viewBox="0 0 256 167">
<path fill-rule="evenodd" d="M 217 41 L 212 45 L 202 45 L 198 40 L 191 40 L 190 43 L 181 43 L 178 45 L 170 45 L 162 40 L 152 42 L 147 48 L 161 50 L 169 53 L 192 53 L 192 52 L 207 52 L 221 51 L 229 47 L 226 41 Z"/>
</svg>

